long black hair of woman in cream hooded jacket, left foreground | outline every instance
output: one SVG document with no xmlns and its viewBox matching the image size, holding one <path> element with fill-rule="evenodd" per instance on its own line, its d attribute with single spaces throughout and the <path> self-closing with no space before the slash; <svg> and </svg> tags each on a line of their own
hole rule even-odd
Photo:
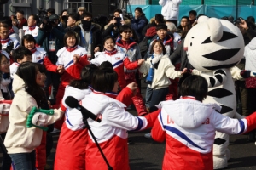
<svg viewBox="0 0 256 170">
<path fill-rule="evenodd" d="M 38 66 L 32 62 L 24 62 L 20 64 L 16 74 L 25 82 L 25 90 L 37 102 L 38 107 L 44 105 L 46 98 L 43 88 L 36 82 L 38 74 Z"/>
</svg>

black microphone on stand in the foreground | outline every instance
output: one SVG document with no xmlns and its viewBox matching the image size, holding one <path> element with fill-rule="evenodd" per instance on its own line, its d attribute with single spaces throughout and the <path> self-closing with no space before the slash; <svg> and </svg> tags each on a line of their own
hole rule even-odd
<svg viewBox="0 0 256 170">
<path fill-rule="evenodd" d="M 83 116 L 90 117 L 92 120 L 96 122 L 102 122 L 102 120 L 99 119 L 98 116 L 85 109 L 82 105 L 79 105 L 79 101 L 73 98 L 72 96 L 67 96 L 67 98 L 65 99 L 65 103 L 68 107 L 76 108 L 77 110 L 81 111 Z"/>
</svg>

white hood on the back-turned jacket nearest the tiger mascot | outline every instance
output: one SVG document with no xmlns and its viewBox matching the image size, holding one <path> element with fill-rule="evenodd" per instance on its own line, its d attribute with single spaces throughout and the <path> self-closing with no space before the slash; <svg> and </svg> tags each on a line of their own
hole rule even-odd
<svg viewBox="0 0 256 170">
<path fill-rule="evenodd" d="M 206 122 L 207 118 L 215 109 L 219 110 L 217 104 L 203 104 L 195 99 L 177 99 L 162 103 L 162 110 L 179 126 L 183 128 L 195 128 Z"/>
</svg>

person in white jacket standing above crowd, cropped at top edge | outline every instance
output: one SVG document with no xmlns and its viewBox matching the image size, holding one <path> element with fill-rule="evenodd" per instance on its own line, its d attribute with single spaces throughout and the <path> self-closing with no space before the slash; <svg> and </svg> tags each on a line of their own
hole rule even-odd
<svg viewBox="0 0 256 170">
<path fill-rule="evenodd" d="M 162 6 L 161 14 L 168 21 L 172 21 L 177 26 L 179 5 L 182 0 L 160 0 L 159 4 Z"/>
</svg>

